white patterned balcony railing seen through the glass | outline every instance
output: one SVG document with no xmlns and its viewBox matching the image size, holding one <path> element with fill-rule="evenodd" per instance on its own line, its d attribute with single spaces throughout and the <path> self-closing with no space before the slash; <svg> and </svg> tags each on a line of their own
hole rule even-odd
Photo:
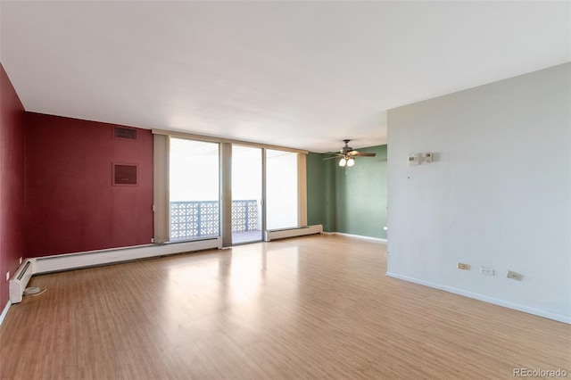
<svg viewBox="0 0 571 380">
<path fill-rule="evenodd" d="M 170 202 L 170 241 L 220 235 L 218 201 Z M 232 201 L 232 232 L 258 229 L 258 202 Z"/>
</svg>

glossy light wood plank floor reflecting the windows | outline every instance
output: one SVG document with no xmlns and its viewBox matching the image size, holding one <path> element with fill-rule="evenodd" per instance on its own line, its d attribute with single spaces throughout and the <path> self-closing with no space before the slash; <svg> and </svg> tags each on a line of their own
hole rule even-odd
<svg viewBox="0 0 571 380">
<path fill-rule="evenodd" d="M 3 379 L 571 376 L 571 326 L 385 277 L 385 245 L 315 235 L 33 277 Z"/>
</svg>

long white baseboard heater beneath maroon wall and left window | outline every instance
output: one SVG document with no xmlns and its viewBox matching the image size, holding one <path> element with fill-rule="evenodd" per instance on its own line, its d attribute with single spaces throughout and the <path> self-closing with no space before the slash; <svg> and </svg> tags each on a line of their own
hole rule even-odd
<svg viewBox="0 0 571 380">
<path fill-rule="evenodd" d="M 150 244 L 138 247 L 119 248 L 103 251 L 69 253 L 56 256 L 38 257 L 34 274 L 58 272 L 68 269 L 95 267 L 121 261 L 148 259 L 174 253 L 220 249 L 222 238 L 195 240 L 192 242 Z"/>
</svg>

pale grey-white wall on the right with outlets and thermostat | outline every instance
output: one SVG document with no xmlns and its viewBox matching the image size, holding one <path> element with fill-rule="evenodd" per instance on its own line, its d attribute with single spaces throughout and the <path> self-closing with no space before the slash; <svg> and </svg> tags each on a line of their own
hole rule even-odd
<svg viewBox="0 0 571 380">
<path fill-rule="evenodd" d="M 387 275 L 571 323 L 570 73 L 388 112 Z M 420 152 L 434 162 L 408 166 Z"/>
</svg>

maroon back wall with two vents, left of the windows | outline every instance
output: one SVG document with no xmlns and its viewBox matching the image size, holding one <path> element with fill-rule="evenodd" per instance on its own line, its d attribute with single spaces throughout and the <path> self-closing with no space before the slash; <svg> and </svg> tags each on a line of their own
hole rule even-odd
<svg viewBox="0 0 571 380">
<path fill-rule="evenodd" d="M 29 257 L 150 244 L 153 135 L 113 137 L 112 124 L 27 112 Z M 137 186 L 112 186 L 112 163 L 138 165 Z"/>
</svg>

